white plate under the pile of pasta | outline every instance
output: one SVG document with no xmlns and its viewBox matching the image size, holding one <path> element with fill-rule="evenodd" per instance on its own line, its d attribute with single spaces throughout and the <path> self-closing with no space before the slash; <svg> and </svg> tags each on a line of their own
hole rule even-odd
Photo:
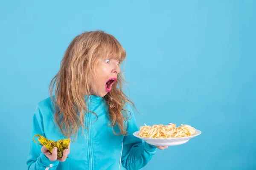
<svg viewBox="0 0 256 170">
<path fill-rule="evenodd" d="M 175 146 L 175 145 L 180 145 L 180 144 L 184 144 L 184 143 L 188 142 L 189 139 L 200 135 L 202 132 L 200 130 L 195 130 L 195 134 L 192 136 L 181 137 L 181 138 L 168 138 L 168 139 L 142 138 L 142 137 L 138 136 L 139 133 L 140 133 L 140 130 L 137 132 L 134 132 L 133 135 L 136 136 L 137 138 L 144 140 L 145 142 L 147 142 L 149 144 L 152 144 L 155 146 Z"/>
</svg>

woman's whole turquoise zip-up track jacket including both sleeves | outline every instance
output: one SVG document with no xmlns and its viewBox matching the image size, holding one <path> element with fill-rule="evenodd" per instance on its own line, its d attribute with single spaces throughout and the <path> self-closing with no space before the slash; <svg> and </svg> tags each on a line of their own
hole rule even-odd
<svg viewBox="0 0 256 170">
<path fill-rule="evenodd" d="M 87 99 L 87 96 L 85 97 Z M 87 108 L 97 114 L 98 120 L 94 122 L 96 116 L 93 113 L 86 114 L 85 123 L 89 130 L 85 129 L 84 133 L 87 137 L 82 136 L 80 132 L 77 140 L 70 143 L 69 158 L 61 162 L 50 161 L 41 153 L 42 146 L 32 141 L 35 134 L 53 141 L 67 138 L 54 124 L 51 99 L 38 102 L 29 139 L 29 156 L 26 161 L 28 170 L 138 170 L 144 167 L 157 148 L 133 136 L 139 128 L 130 105 L 127 104 L 125 107 L 131 112 L 131 119 L 127 125 L 128 135 L 116 136 L 112 127 L 108 126 L 108 105 L 105 100 L 99 96 L 89 96 Z"/>
</svg>

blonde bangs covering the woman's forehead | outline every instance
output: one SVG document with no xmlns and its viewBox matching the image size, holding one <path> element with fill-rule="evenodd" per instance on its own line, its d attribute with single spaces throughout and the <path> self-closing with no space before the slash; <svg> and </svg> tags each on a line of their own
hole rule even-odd
<svg viewBox="0 0 256 170">
<path fill-rule="evenodd" d="M 122 62 L 126 57 L 126 51 L 122 45 L 110 34 L 101 34 L 100 44 L 96 48 L 96 54 L 98 57 L 104 59 L 116 59 Z"/>
</svg>

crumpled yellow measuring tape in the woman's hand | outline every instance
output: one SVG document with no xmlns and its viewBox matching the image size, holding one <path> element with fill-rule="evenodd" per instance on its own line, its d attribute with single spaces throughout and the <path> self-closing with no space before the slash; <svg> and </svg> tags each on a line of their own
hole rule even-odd
<svg viewBox="0 0 256 170">
<path fill-rule="evenodd" d="M 39 137 L 38 138 L 38 142 L 35 141 L 35 137 Z M 57 154 L 57 157 L 58 158 L 62 158 L 62 155 L 63 155 L 63 151 L 65 149 L 68 149 L 68 145 L 70 143 L 70 139 L 60 139 L 58 140 L 57 142 L 55 141 L 52 141 L 52 140 L 49 140 L 47 138 L 45 138 L 44 136 L 41 136 L 39 134 L 36 134 L 34 137 L 33 137 L 33 141 L 37 144 L 40 144 L 41 146 L 45 146 L 51 153 L 52 153 L 52 150 L 54 147 L 57 147 L 58 148 L 58 154 Z M 67 157 L 68 158 L 68 157 Z"/>
</svg>

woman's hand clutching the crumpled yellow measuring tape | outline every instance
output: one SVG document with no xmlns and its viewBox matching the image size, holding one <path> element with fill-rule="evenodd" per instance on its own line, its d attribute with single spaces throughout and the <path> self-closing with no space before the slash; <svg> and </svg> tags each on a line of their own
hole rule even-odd
<svg viewBox="0 0 256 170">
<path fill-rule="evenodd" d="M 43 146 L 43 147 L 41 148 L 42 153 L 44 153 L 44 155 L 45 155 L 50 161 L 56 161 L 56 160 L 58 160 L 58 161 L 64 162 L 64 161 L 66 161 L 66 159 L 67 159 L 67 155 L 70 153 L 70 143 L 69 143 L 69 145 L 68 145 L 68 149 L 65 149 L 65 150 L 63 151 L 63 155 L 62 155 L 61 158 L 58 158 L 58 157 L 57 157 L 57 150 L 58 150 L 57 147 L 54 147 L 53 150 L 52 150 L 52 153 L 51 153 L 51 152 L 47 149 L 47 147 Z"/>
</svg>

